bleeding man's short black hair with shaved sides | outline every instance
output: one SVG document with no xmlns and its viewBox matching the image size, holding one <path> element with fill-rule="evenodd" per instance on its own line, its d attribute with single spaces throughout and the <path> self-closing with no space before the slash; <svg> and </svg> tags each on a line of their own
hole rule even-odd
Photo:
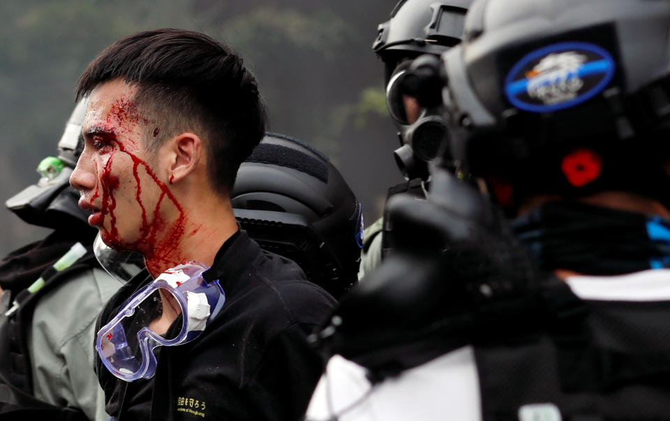
<svg viewBox="0 0 670 421">
<path fill-rule="evenodd" d="M 218 192 L 230 192 L 239 165 L 266 130 L 258 84 L 241 57 L 203 33 L 135 33 L 91 61 L 79 79 L 77 99 L 118 78 L 137 86 L 147 151 L 156 153 L 165 139 L 187 130 L 204 133 L 209 177 Z"/>
</svg>

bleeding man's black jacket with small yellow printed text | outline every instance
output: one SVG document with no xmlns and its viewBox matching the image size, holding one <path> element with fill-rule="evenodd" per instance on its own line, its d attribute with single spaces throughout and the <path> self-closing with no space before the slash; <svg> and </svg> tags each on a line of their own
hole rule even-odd
<svg viewBox="0 0 670 421">
<path fill-rule="evenodd" d="M 299 419 L 323 367 L 306 336 L 335 300 L 244 231 L 226 241 L 204 277 L 220 280 L 225 305 L 193 342 L 160 349 L 154 378 L 126 383 L 98 358 L 107 413 L 121 420 Z M 150 280 L 140 273 L 121 289 L 98 329 Z"/>
</svg>

